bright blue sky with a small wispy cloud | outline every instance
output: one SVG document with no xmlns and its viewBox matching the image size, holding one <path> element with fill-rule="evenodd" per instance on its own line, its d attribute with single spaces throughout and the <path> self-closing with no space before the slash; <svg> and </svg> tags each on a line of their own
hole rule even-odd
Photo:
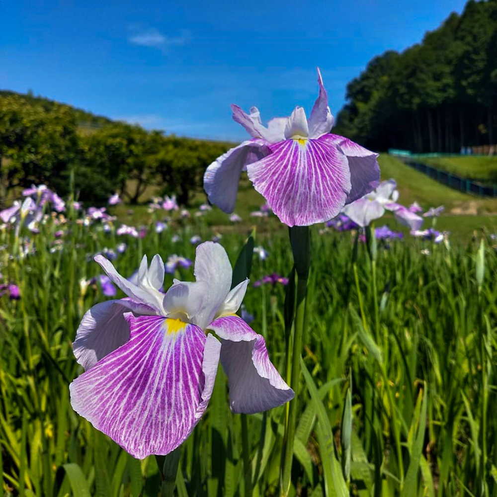
<svg viewBox="0 0 497 497">
<path fill-rule="evenodd" d="M 420 42 L 463 0 L 0 0 L 0 89 L 32 90 L 167 134 L 242 141 L 230 104 L 263 122 L 331 112 L 386 50 Z"/>
</svg>

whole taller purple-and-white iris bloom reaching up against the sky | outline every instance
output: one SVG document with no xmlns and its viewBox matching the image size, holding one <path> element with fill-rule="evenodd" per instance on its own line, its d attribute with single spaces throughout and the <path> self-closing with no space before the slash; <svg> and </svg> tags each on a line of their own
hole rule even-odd
<svg viewBox="0 0 497 497">
<path fill-rule="evenodd" d="M 262 125 L 256 107 L 232 105 L 233 119 L 252 137 L 219 157 L 206 170 L 209 201 L 231 213 L 238 182 L 247 170 L 254 188 L 288 226 L 309 226 L 335 217 L 344 205 L 378 186 L 378 154 L 330 134 L 333 116 L 318 69 L 319 96 L 309 119 L 302 107 L 290 117 Z"/>
</svg>

